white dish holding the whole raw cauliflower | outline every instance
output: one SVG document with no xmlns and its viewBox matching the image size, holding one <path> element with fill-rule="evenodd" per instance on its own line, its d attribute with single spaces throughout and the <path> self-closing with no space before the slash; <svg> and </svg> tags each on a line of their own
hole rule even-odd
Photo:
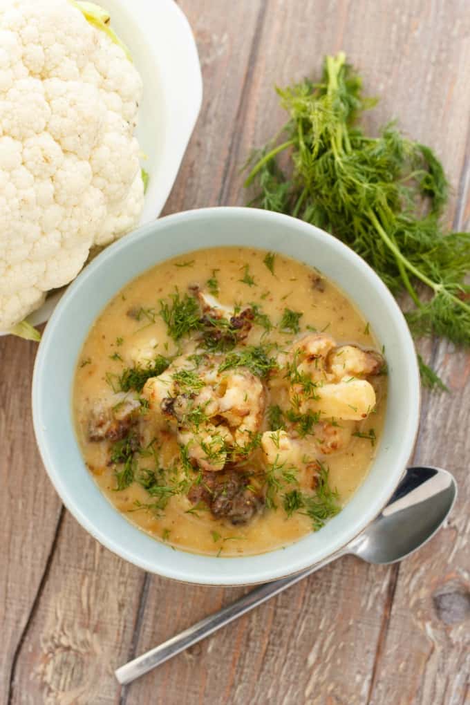
<svg viewBox="0 0 470 705">
<path fill-rule="evenodd" d="M 201 109 L 199 57 L 191 27 L 173 0 L 96 1 L 111 14 L 111 25 L 144 82 L 137 127 L 147 155 L 142 166 L 150 175 L 140 219 L 144 225 L 163 209 Z M 50 296 L 28 321 L 47 321 L 62 293 Z"/>
</svg>

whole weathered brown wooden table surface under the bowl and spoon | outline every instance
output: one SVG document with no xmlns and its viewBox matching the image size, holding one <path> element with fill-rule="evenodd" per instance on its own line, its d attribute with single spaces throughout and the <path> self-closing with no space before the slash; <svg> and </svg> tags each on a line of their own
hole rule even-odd
<svg viewBox="0 0 470 705">
<path fill-rule="evenodd" d="M 165 212 L 242 204 L 239 167 L 283 121 L 273 84 L 345 49 L 392 116 L 436 149 L 470 214 L 468 0 L 181 0 L 204 104 Z M 147 87 L 147 90 L 149 87 Z M 147 575 L 61 505 L 32 432 L 36 345 L 0 340 L 0 703 L 463 705 L 470 702 L 470 357 L 426 341 L 450 394 L 425 393 L 415 463 L 447 467 L 447 526 L 401 565 L 342 558 L 135 682 L 113 669 L 244 589 Z M 403 410 L 406 413 L 406 409 Z"/>
</svg>

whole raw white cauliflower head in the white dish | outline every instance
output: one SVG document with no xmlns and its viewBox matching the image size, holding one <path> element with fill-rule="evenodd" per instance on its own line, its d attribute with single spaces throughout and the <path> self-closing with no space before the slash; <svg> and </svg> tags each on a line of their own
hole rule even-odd
<svg viewBox="0 0 470 705">
<path fill-rule="evenodd" d="M 142 80 L 68 0 L 0 0 L 0 330 L 140 218 Z"/>
</svg>

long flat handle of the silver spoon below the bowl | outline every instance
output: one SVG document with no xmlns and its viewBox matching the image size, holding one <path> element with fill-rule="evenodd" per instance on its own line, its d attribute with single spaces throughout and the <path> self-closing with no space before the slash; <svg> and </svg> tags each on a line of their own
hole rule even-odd
<svg viewBox="0 0 470 705">
<path fill-rule="evenodd" d="M 209 635 L 214 634 L 214 632 L 221 629 L 221 627 L 230 624 L 233 620 L 266 602 L 266 600 L 274 595 L 278 595 L 287 587 L 295 585 L 296 582 L 307 577 L 307 575 L 311 575 L 311 573 L 316 570 L 323 568 L 323 565 L 327 565 L 336 558 L 339 558 L 343 553 L 345 553 L 345 551 L 335 553 L 335 556 L 328 556 L 328 558 L 321 561 L 321 563 L 315 563 L 315 565 L 312 565 L 310 568 L 305 568 L 295 575 L 290 575 L 280 578 L 280 580 L 255 587 L 254 590 L 247 592 L 247 594 L 240 597 L 240 599 L 223 607 L 218 612 L 209 615 L 209 617 L 202 619 L 200 622 L 192 625 L 192 627 L 185 629 L 184 632 L 180 632 L 180 634 L 175 637 L 168 639 L 167 642 L 163 642 L 163 644 L 147 651 L 146 654 L 137 656 L 137 658 L 129 661 L 129 663 L 125 663 L 124 666 L 120 666 L 120 668 L 114 672 L 116 678 L 123 684 L 130 683 L 132 680 L 140 678 L 140 676 L 147 673 L 147 671 L 156 668 L 156 666 L 160 666 L 164 661 L 168 661 L 168 658 L 173 658 L 173 656 L 180 654 L 181 651 L 185 651 L 189 646 L 197 644 L 197 642 L 200 642 L 202 639 L 209 637 Z"/>
</svg>

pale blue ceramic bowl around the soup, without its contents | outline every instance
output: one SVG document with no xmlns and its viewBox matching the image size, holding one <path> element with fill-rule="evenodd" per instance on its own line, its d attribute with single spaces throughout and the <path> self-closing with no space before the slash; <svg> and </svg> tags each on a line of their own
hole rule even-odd
<svg viewBox="0 0 470 705">
<path fill-rule="evenodd" d="M 175 551 L 131 525 L 101 494 L 73 430 L 72 386 L 87 332 L 106 303 L 149 266 L 185 252 L 245 245 L 295 257 L 338 284 L 385 345 L 388 403 L 376 459 L 350 503 L 315 534 L 261 556 L 215 558 Z M 402 477 L 419 422 L 414 344 L 395 299 L 373 270 L 331 235 L 302 221 L 248 208 L 167 216 L 114 243 L 68 287 L 39 345 L 32 384 L 35 433 L 44 465 L 80 524 L 111 551 L 166 577 L 199 584 L 253 584 L 288 575 L 338 551 L 385 506 Z"/>
</svg>

